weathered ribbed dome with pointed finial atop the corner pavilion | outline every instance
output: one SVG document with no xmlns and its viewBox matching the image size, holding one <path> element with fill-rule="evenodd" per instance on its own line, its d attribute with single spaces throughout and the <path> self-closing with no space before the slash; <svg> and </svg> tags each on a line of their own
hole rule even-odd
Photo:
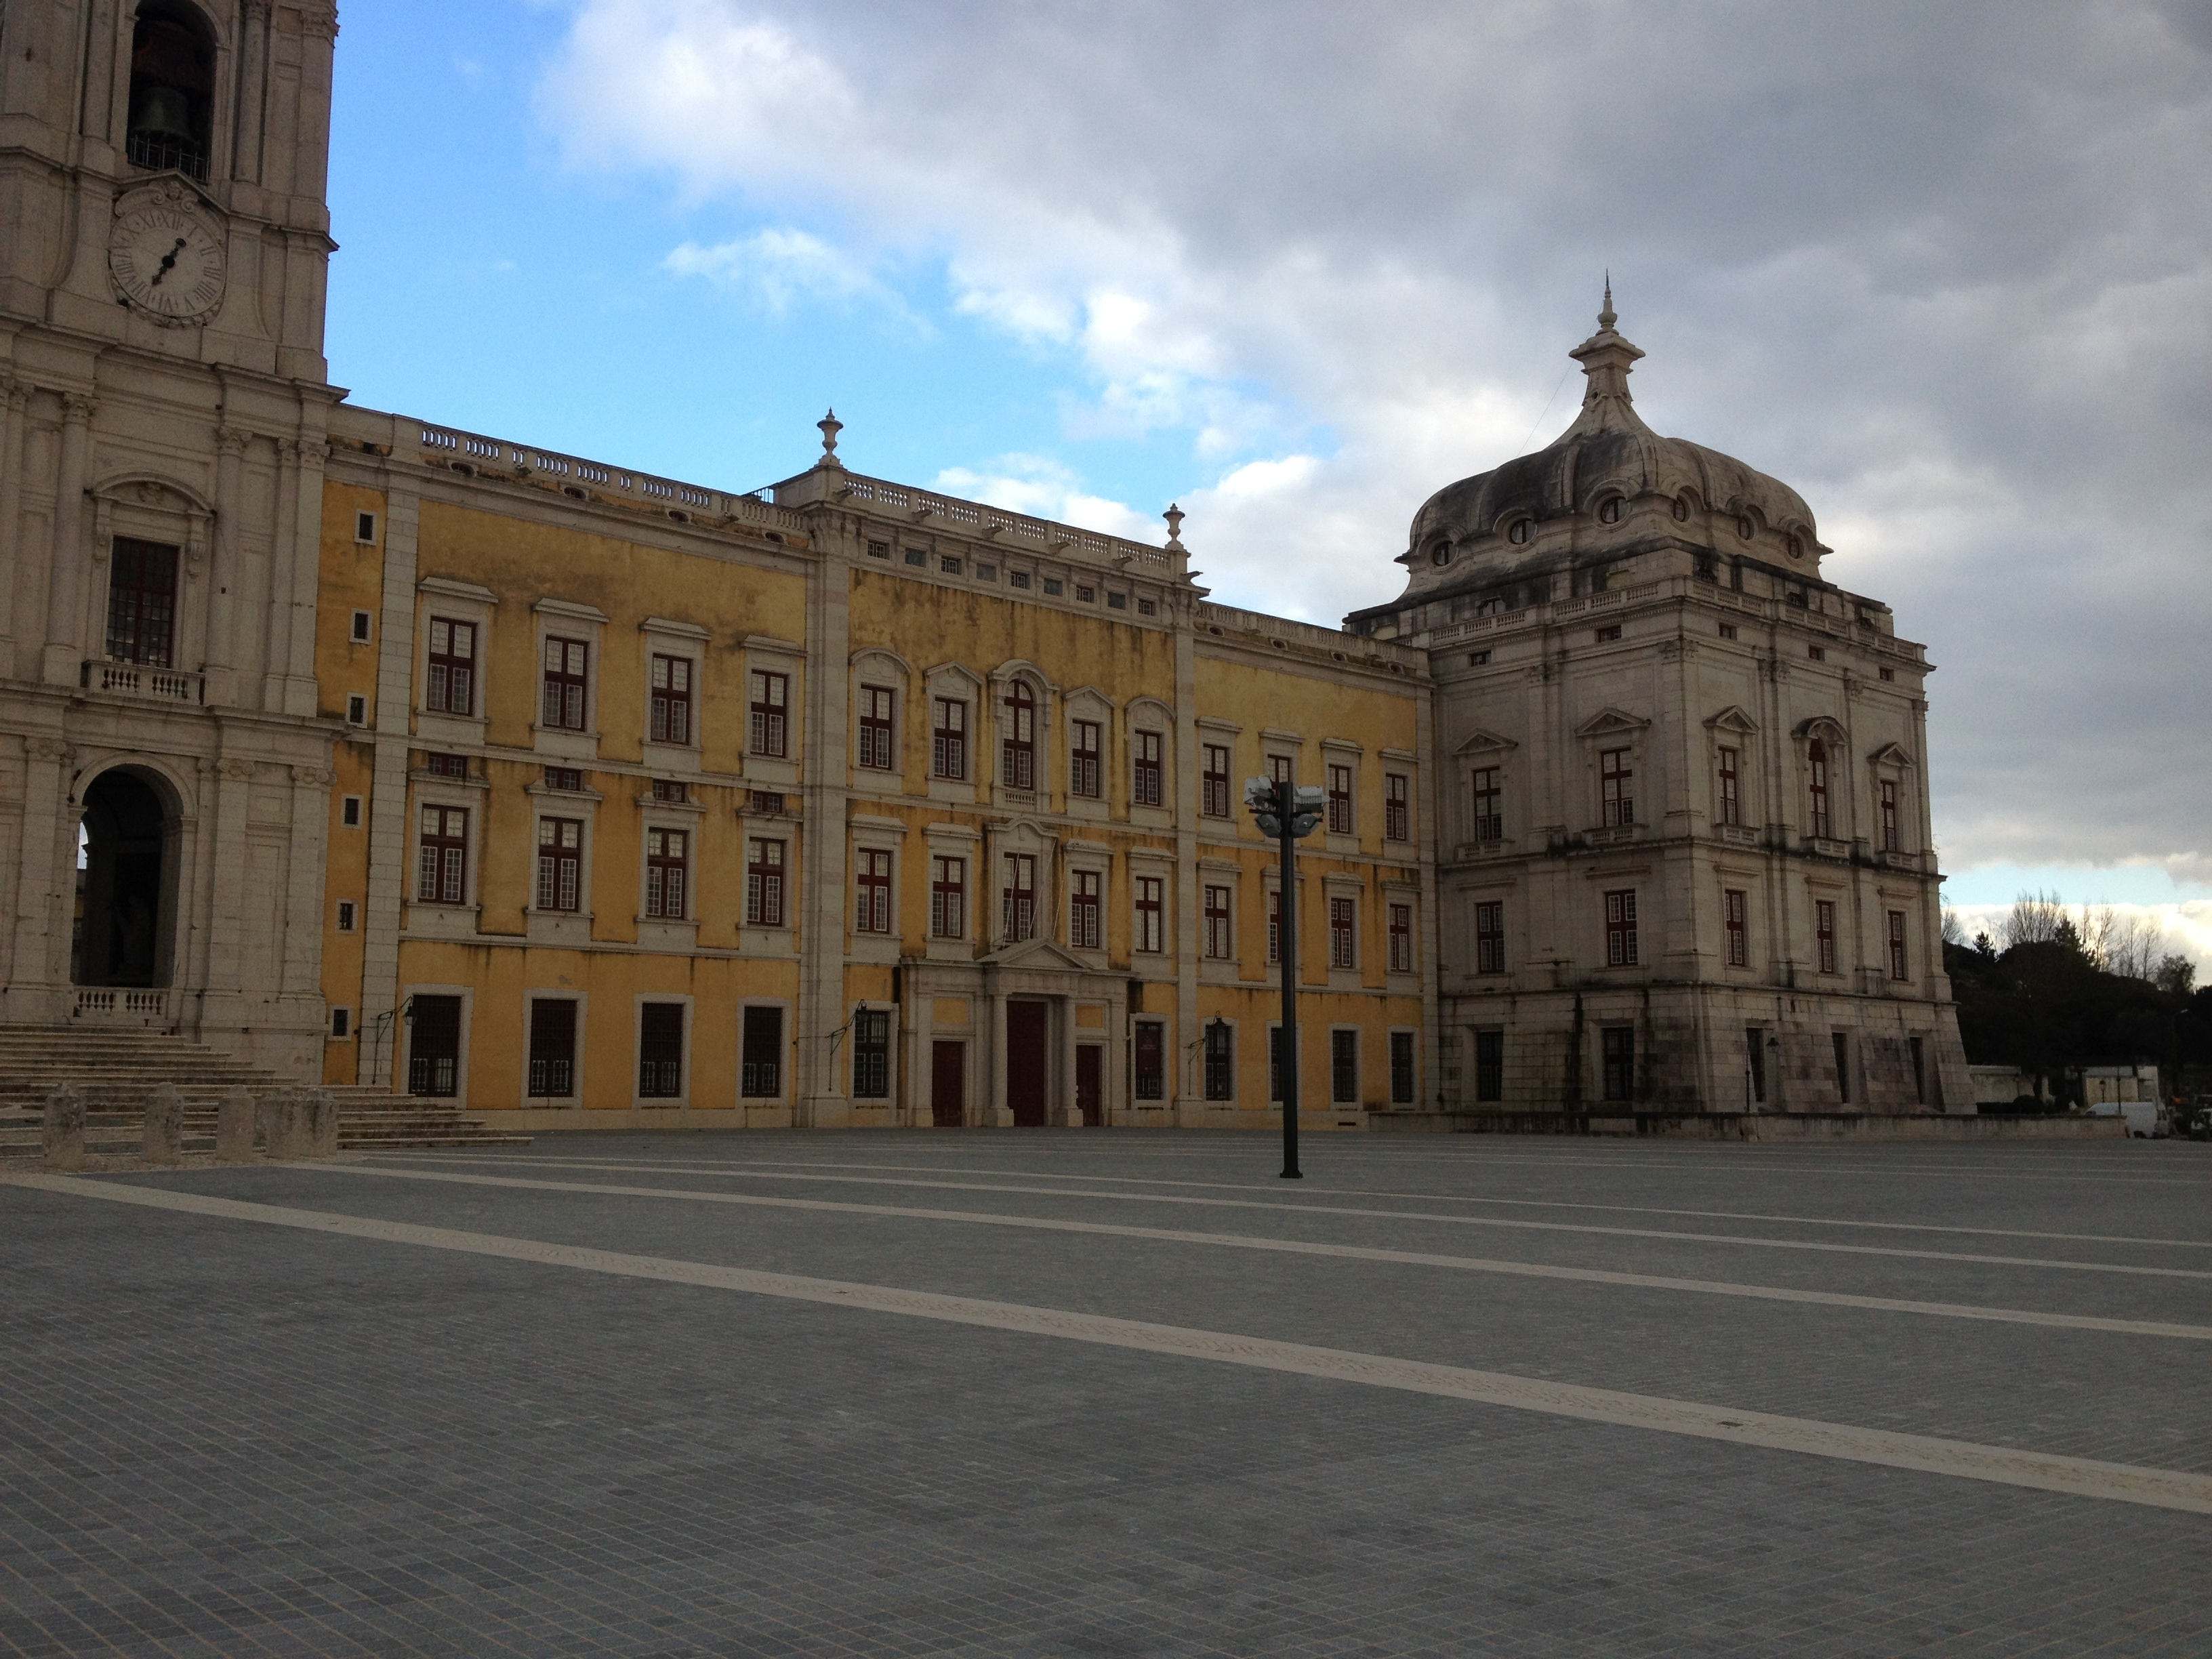
<svg viewBox="0 0 2212 1659">
<path fill-rule="evenodd" d="M 1630 367 L 1644 352 L 1615 332 L 1615 321 L 1608 285 L 1597 334 L 1568 354 L 1582 363 L 1586 385 L 1566 431 L 1422 502 L 1405 553 L 1416 588 L 1458 588 L 1533 555 L 1601 557 L 1655 540 L 1798 573 L 1818 566 L 1827 549 L 1794 489 L 1734 456 L 1644 425 L 1628 396 Z"/>
</svg>

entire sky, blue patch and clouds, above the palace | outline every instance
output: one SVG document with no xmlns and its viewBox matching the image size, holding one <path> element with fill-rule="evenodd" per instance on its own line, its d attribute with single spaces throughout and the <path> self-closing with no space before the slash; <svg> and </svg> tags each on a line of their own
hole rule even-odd
<svg viewBox="0 0 2212 1659">
<path fill-rule="evenodd" d="M 810 465 L 1389 597 L 1637 407 L 1794 484 L 1929 644 L 1949 894 L 2212 964 L 2212 4 L 343 11 L 332 374 L 719 487 Z"/>
</svg>

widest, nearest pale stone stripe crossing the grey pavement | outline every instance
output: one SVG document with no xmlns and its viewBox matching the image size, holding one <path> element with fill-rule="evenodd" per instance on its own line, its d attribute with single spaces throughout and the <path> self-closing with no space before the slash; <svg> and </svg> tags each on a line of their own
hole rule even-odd
<svg viewBox="0 0 2212 1659">
<path fill-rule="evenodd" d="M 779 1296 L 787 1301 L 854 1307 L 878 1314 L 905 1314 L 914 1318 L 980 1325 L 1031 1336 L 1057 1336 L 1064 1340 L 1097 1343 L 1104 1347 L 1137 1349 L 1146 1354 L 1248 1365 L 1267 1371 L 1292 1371 L 1298 1376 L 1338 1383 L 1365 1383 L 1369 1387 L 1402 1389 L 1411 1394 L 1438 1394 L 1455 1400 L 1579 1418 L 1586 1422 L 1655 1429 L 1661 1433 L 1725 1440 L 1732 1444 L 1765 1447 L 1772 1451 L 1798 1451 L 1816 1458 L 1869 1462 L 1889 1469 L 1913 1469 L 1920 1473 L 1984 1480 L 2004 1486 L 2028 1486 L 2035 1491 L 2066 1493 L 2075 1498 L 2101 1498 L 2126 1504 L 2146 1504 L 2152 1509 L 2212 1515 L 2212 1475 L 2197 1475 L 2179 1469 L 2146 1469 L 2139 1464 L 2099 1462 L 2093 1458 L 2064 1458 L 2046 1451 L 1984 1447 L 1966 1440 L 1940 1440 L 1933 1436 L 1896 1433 L 1889 1429 L 1863 1429 L 1854 1425 L 1818 1422 L 1812 1418 L 1741 1411 L 1699 1400 L 1668 1400 L 1648 1394 L 1624 1394 L 1619 1389 L 1593 1389 L 1577 1383 L 1535 1380 L 1502 1371 L 1478 1371 L 1460 1365 L 1436 1365 L 1383 1354 L 1354 1354 L 1332 1347 L 1310 1347 L 1305 1343 L 1279 1343 L 1261 1336 L 1239 1336 L 1234 1332 L 1155 1325 L 1148 1321 L 1077 1314 L 1057 1307 L 1026 1307 L 1022 1303 L 982 1301 L 975 1296 L 945 1296 L 938 1292 L 900 1290 L 894 1285 L 865 1285 L 836 1279 L 812 1279 L 803 1274 L 723 1267 L 699 1261 L 675 1261 L 668 1256 L 639 1256 L 617 1250 L 544 1243 L 538 1239 L 511 1239 L 489 1232 L 425 1228 L 409 1221 L 380 1221 L 332 1210 L 241 1203 L 237 1199 L 212 1199 L 197 1192 L 124 1186 L 117 1181 L 86 1181 L 66 1175 L 33 1172 L 7 1172 L 0 1175 L 0 1181 L 84 1199 L 106 1199 L 113 1203 L 146 1206 L 153 1210 L 219 1217 L 223 1221 L 301 1228 L 305 1232 L 369 1239 L 378 1243 L 453 1250 L 549 1267 L 575 1267 L 584 1272 L 697 1285 L 706 1290 L 737 1290 L 754 1296 Z M 500 1183 L 504 1186 L 504 1181 Z"/>
</svg>

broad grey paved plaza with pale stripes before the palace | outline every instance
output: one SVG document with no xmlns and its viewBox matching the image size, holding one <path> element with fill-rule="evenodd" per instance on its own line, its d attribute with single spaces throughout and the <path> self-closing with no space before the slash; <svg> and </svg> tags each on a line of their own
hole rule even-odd
<svg viewBox="0 0 2212 1659">
<path fill-rule="evenodd" d="M 2212 1148 L 0 1181 L 0 1652 L 2212 1652 Z"/>
</svg>

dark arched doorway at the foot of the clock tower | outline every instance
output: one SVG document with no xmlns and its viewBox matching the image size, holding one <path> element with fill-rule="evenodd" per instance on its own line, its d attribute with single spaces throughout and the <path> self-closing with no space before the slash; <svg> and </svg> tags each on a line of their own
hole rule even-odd
<svg viewBox="0 0 2212 1659">
<path fill-rule="evenodd" d="M 128 768 L 102 772 L 84 792 L 71 951 L 77 984 L 168 984 L 170 830 L 161 794 Z"/>
</svg>

